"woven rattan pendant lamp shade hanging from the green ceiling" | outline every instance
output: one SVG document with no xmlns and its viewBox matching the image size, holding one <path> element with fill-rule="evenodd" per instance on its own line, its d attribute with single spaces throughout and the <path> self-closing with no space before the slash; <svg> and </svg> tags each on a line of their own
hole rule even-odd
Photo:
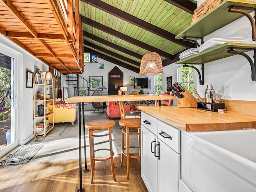
<svg viewBox="0 0 256 192">
<path fill-rule="evenodd" d="M 159 54 L 156 52 L 146 53 L 140 62 L 140 75 L 163 74 L 163 64 Z"/>
</svg>

